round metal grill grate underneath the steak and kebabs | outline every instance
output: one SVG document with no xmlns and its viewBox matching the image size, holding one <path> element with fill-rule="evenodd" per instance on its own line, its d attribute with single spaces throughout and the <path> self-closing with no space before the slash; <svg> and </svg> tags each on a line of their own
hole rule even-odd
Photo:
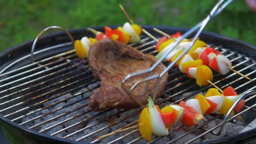
<svg viewBox="0 0 256 144">
<path fill-rule="evenodd" d="M 145 37 L 143 41 L 142 45 L 132 44 L 131 46 L 142 52 L 156 55 L 155 41 Z M 72 49 L 71 43 L 66 43 L 49 47 L 48 50 L 56 47 L 61 49 L 63 46 L 69 46 Z M 248 81 L 232 72 L 225 76 L 214 73 L 213 82 L 218 87 L 224 89 L 231 85 L 238 93 L 255 89 L 256 66 L 253 58 L 221 46 L 211 46 L 231 60 L 232 68 L 252 78 L 252 81 Z M 28 59 L 28 56 L 23 59 Z M 19 61 L 16 63 L 19 64 Z M 168 73 L 165 94 L 157 102 L 161 107 L 191 98 L 211 87 L 197 86 L 195 80 L 188 79 L 177 68 L 173 68 Z M 115 137 L 109 136 L 103 140 L 93 140 L 110 131 L 136 125 L 140 110 L 92 111 L 88 106 L 88 98 L 100 86 L 100 83 L 96 82 L 92 76 L 87 59 L 79 59 L 74 50 L 49 56 L 36 63 L 3 73 L 0 75 L 0 83 L 0 114 L 12 122 L 18 123 L 24 129 L 33 129 L 39 133 L 63 139 L 91 143 L 146 142 L 142 136 L 137 134 L 138 129 L 125 131 Z M 247 98 L 243 111 L 230 117 L 229 123 L 234 123 L 234 119 L 244 113 L 255 113 L 255 97 L 256 95 Z M 184 129 L 183 125 L 179 124 L 170 131 L 168 136 L 155 137 L 152 142 L 148 143 L 177 142 L 195 131 L 200 131 L 200 134 L 194 135 L 193 138 L 190 137 L 191 141 L 189 142 L 201 141 L 202 137 L 208 133 L 215 134 L 213 130 L 219 128 L 220 124 L 216 124 L 213 128 L 208 124 L 217 119 L 221 120 L 223 116 L 207 116 L 206 121 L 186 130 L 183 134 L 173 136 L 178 133 L 177 131 Z"/>
</svg>

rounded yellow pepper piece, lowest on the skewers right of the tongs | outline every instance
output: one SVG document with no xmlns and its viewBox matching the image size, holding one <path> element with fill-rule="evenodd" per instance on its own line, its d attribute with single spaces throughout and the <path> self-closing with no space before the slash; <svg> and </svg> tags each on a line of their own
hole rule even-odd
<svg viewBox="0 0 256 144">
<path fill-rule="evenodd" d="M 196 83 L 199 86 L 208 85 L 208 81 L 212 81 L 212 70 L 206 65 L 197 65 L 196 67 Z"/>
</svg>

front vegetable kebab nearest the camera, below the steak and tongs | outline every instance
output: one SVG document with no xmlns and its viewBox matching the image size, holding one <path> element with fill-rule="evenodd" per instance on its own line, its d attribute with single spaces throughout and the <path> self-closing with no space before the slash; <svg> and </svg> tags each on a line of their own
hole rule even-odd
<svg viewBox="0 0 256 144">
<path fill-rule="evenodd" d="M 224 89 L 223 94 L 219 93 L 216 88 L 210 88 L 205 96 L 198 94 L 195 99 L 189 99 L 186 102 L 180 101 L 179 105 L 167 105 L 161 110 L 158 105 L 154 105 L 152 98 L 149 97 L 148 107 L 145 107 L 139 115 L 139 132 L 144 139 L 152 141 L 152 134 L 168 135 L 172 125 L 178 121 L 186 127 L 191 127 L 200 123 L 204 118 L 203 115 L 217 112 L 226 115 L 241 96 L 237 95 L 232 87 Z M 241 100 L 234 111 L 239 112 L 244 105 L 245 101 Z"/>
</svg>

